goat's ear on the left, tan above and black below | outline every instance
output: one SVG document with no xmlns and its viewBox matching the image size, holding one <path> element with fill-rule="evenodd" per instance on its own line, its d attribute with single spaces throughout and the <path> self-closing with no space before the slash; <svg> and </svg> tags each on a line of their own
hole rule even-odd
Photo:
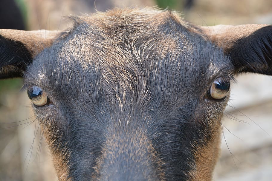
<svg viewBox="0 0 272 181">
<path fill-rule="evenodd" d="M 33 58 L 52 45 L 56 31 L 0 29 L 0 79 L 22 77 Z"/>
</svg>

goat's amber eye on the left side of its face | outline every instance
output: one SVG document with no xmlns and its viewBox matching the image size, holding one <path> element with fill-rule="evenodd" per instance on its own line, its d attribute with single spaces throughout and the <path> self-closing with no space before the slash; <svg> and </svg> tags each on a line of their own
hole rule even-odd
<svg viewBox="0 0 272 181">
<path fill-rule="evenodd" d="M 50 99 L 38 86 L 33 86 L 31 89 L 27 90 L 27 95 L 31 102 L 36 106 L 45 106 L 50 104 Z"/>
</svg>

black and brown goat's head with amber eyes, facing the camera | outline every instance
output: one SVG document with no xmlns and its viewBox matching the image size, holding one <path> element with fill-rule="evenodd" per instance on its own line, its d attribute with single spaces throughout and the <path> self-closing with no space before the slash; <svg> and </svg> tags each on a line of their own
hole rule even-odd
<svg viewBox="0 0 272 181">
<path fill-rule="evenodd" d="M 71 18 L 0 30 L 0 78 L 24 79 L 59 180 L 212 180 L 230 83 L 272 75 L 272 26 L 156 8 Z"/>
</svg>

